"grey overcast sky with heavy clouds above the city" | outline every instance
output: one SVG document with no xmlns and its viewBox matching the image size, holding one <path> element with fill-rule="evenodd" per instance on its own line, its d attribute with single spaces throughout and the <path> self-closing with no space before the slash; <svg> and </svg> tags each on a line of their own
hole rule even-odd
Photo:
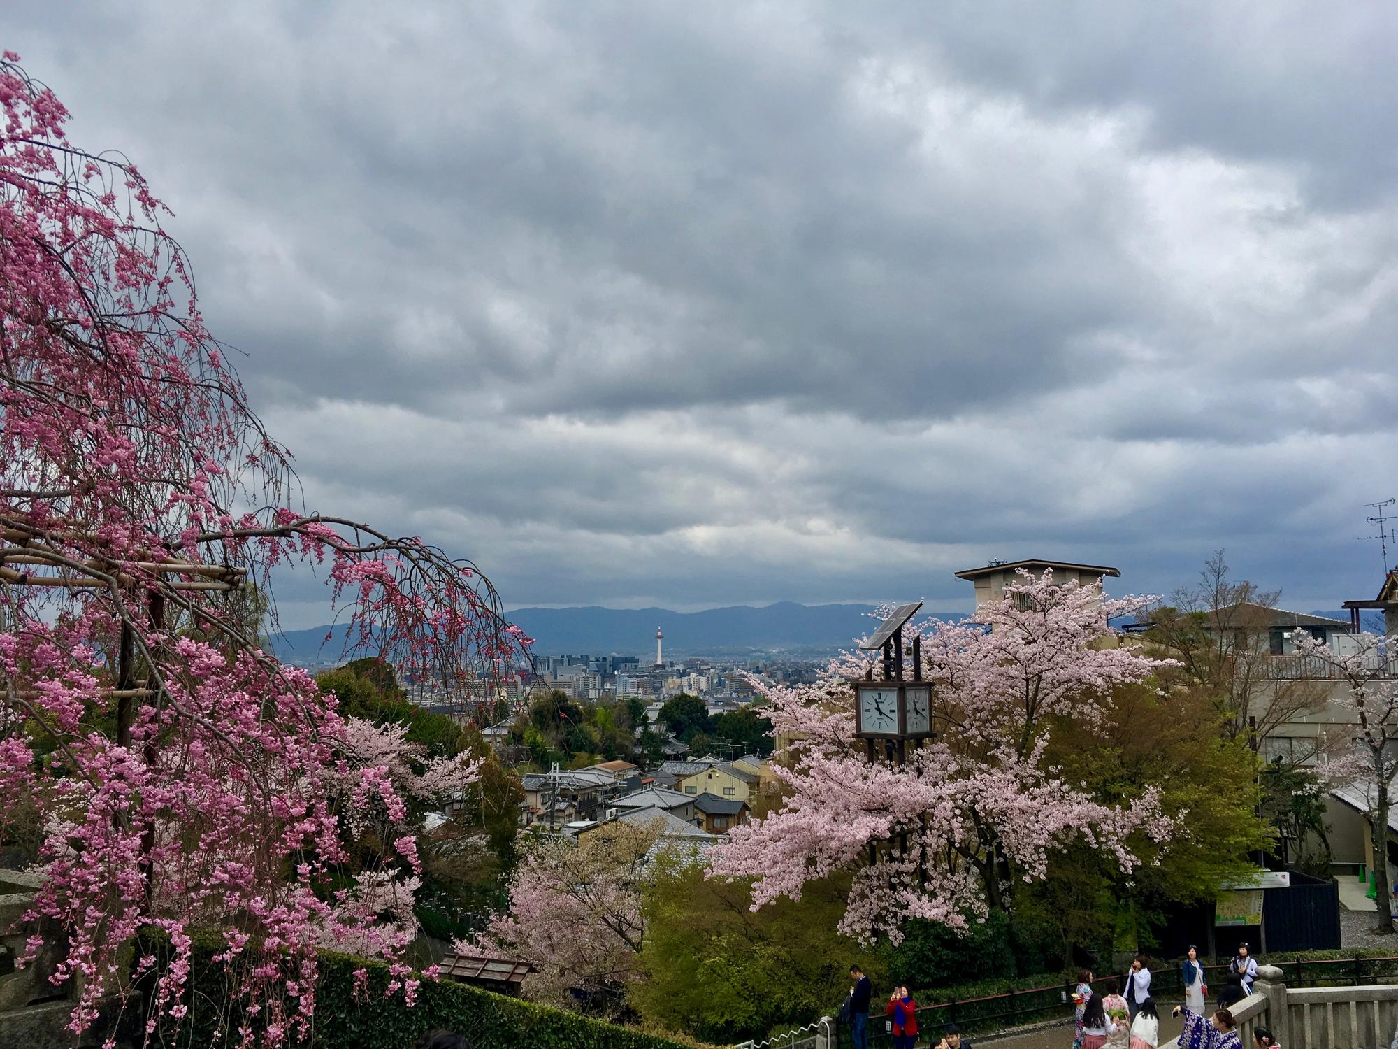
<svg viewBox="0 0 1398 1049">
<path fill-rule="evenodd" d="M 310 502 L 509 606 L 955 610 L 993 557 L 1159 593 L 1216 547 L 1289 607 L 1377 590 L 1387 0 L 4 21 L 175 210 Z"/>
</svg>

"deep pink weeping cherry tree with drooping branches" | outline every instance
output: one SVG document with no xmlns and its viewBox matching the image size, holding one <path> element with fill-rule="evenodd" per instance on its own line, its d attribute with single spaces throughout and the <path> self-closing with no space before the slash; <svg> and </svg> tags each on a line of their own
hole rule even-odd
<svg viewBox="0 0 1398 1049">
<path fill-rule="evenodd" d="M 274 571 L 320 566 L 350 649 L 463 702 L 493 702 L 524 642 L 470 562 L 292 508 L 291 456 L 206 329 L 169 213 L 134 165 L 74 147 L 15 63 L 0 62 L 0 797 L 45 829 L 27 920 L 66 937 L 53 980 L 74 990 L 75 1032 L 130 993 L 122 952 L 143 930 L 171 939 L 154 1001 L 178 1021 L 201 927 L 260 1041 L 302 1039 L 317 945 L 401 964 L 410 801 L 477 766 L 347 723 L 263 652 Z M 391 848 L 358 870 L 370 827 Z M 347 870 L 354 887 L 331 891 Z M 405 969 L 394 985 L 417 987 Z"/>
</svg>

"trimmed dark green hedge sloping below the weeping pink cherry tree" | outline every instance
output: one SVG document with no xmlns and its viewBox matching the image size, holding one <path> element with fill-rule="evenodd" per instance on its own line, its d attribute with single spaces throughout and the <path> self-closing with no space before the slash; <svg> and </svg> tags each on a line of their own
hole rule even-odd
<svg viewBox="0 0 1398 1049">
<path fill-rule="evenodd" d="M 212 962 L 219 950 L 217 939 L 196 937 L 190 990 L 185 997 L 189 1014 L 179 1025 L 169 1017 L 162 1018 L 151 1045 L 206 1049 L 236 1041 L 236 1028 L 245 1015 L 240 1003 L 232 1003 L 226 971 Z M 169 941 L 143 936 L 138 954 L 157 955 L 157 968 L 164 969 L 171 955 Z M 368 971 L 369 980 L 366 990 L 356 996 L 354 971 L 361 968 Z M 433 1028 L 466 1035 L 478 1049 L 685 1049 L 686 1045 L 450 980 L 424 980 L 417 1004 L 408 1007 L 401 992 L 384 996 L 387 985 L 387 965 L 322 951 L 309 1045 L 313 1049 L 412 1049 L 422 1032 Z"/>
</svg>

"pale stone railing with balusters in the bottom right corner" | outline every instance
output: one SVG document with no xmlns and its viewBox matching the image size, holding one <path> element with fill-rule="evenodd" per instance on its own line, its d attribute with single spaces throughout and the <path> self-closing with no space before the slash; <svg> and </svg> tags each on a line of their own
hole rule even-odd
<svg viewBox="0 0 1398 1049">
<path fill-rule="evenodd" d="M 1233 1008 L 1243 1045 L 1265 1027 L 1286 1049 L 1391 1049 L 1398 1031 L 1398 985 L 1288 987 L 1274 965 L 1257 969 L 1255 993 Z M 1179 1049 L 1179 1039 L 1160 1049 Z"/>
</svg>

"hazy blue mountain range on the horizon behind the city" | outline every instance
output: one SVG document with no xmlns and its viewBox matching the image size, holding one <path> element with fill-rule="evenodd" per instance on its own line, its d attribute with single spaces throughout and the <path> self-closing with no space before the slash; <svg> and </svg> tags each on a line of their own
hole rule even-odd
<svg viewBox="0 0 1398 1049">
<path fill-rule="evenodd" d="M 540 656 L 608 653 L 646 656 L 654 650 L 656 627 L 665 635 L 667 656 L 783 652 L 819 656 L 850 648 L 877 627 L 871 604 L 797 604 L 779 601 L 677 613 L 670 608 L 516 608 L 506 613 Z M 931 613 L 959 620 L 965 613 Z M 331 639 L 326 641 L 326 635 Z M 288 663 L 334 663 L 344 648 L 344 628 L 313 627 L 273 638 L 273 650 Z"/>
</svg>

